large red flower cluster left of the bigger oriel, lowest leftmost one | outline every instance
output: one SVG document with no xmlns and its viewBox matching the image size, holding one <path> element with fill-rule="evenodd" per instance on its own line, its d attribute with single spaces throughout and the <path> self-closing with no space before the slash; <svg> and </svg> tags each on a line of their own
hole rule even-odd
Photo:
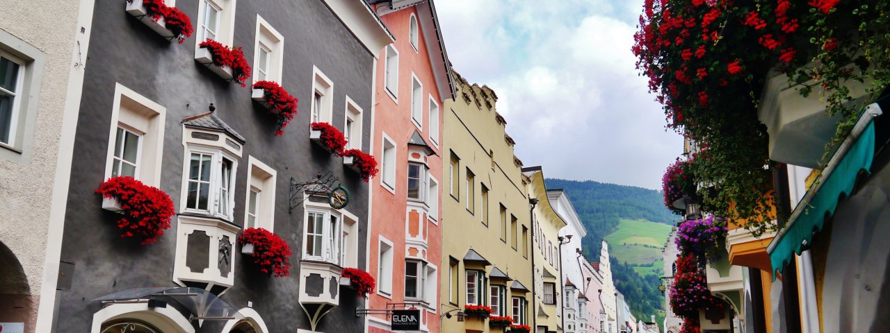
<svg viewBox="0 0 890 333">
<path fill-rule="evenodd" d="M 120 201 L 124 214 L 117 220 L 117 227 L 122 231 L 120 237 L 140 237 L 142 245 L 157 242 L 170 227 L 170 218 L 176 213 L 169 195 L 133 177 L 110 178 L 95 192 L 103 198 Z"/>
</svg>

